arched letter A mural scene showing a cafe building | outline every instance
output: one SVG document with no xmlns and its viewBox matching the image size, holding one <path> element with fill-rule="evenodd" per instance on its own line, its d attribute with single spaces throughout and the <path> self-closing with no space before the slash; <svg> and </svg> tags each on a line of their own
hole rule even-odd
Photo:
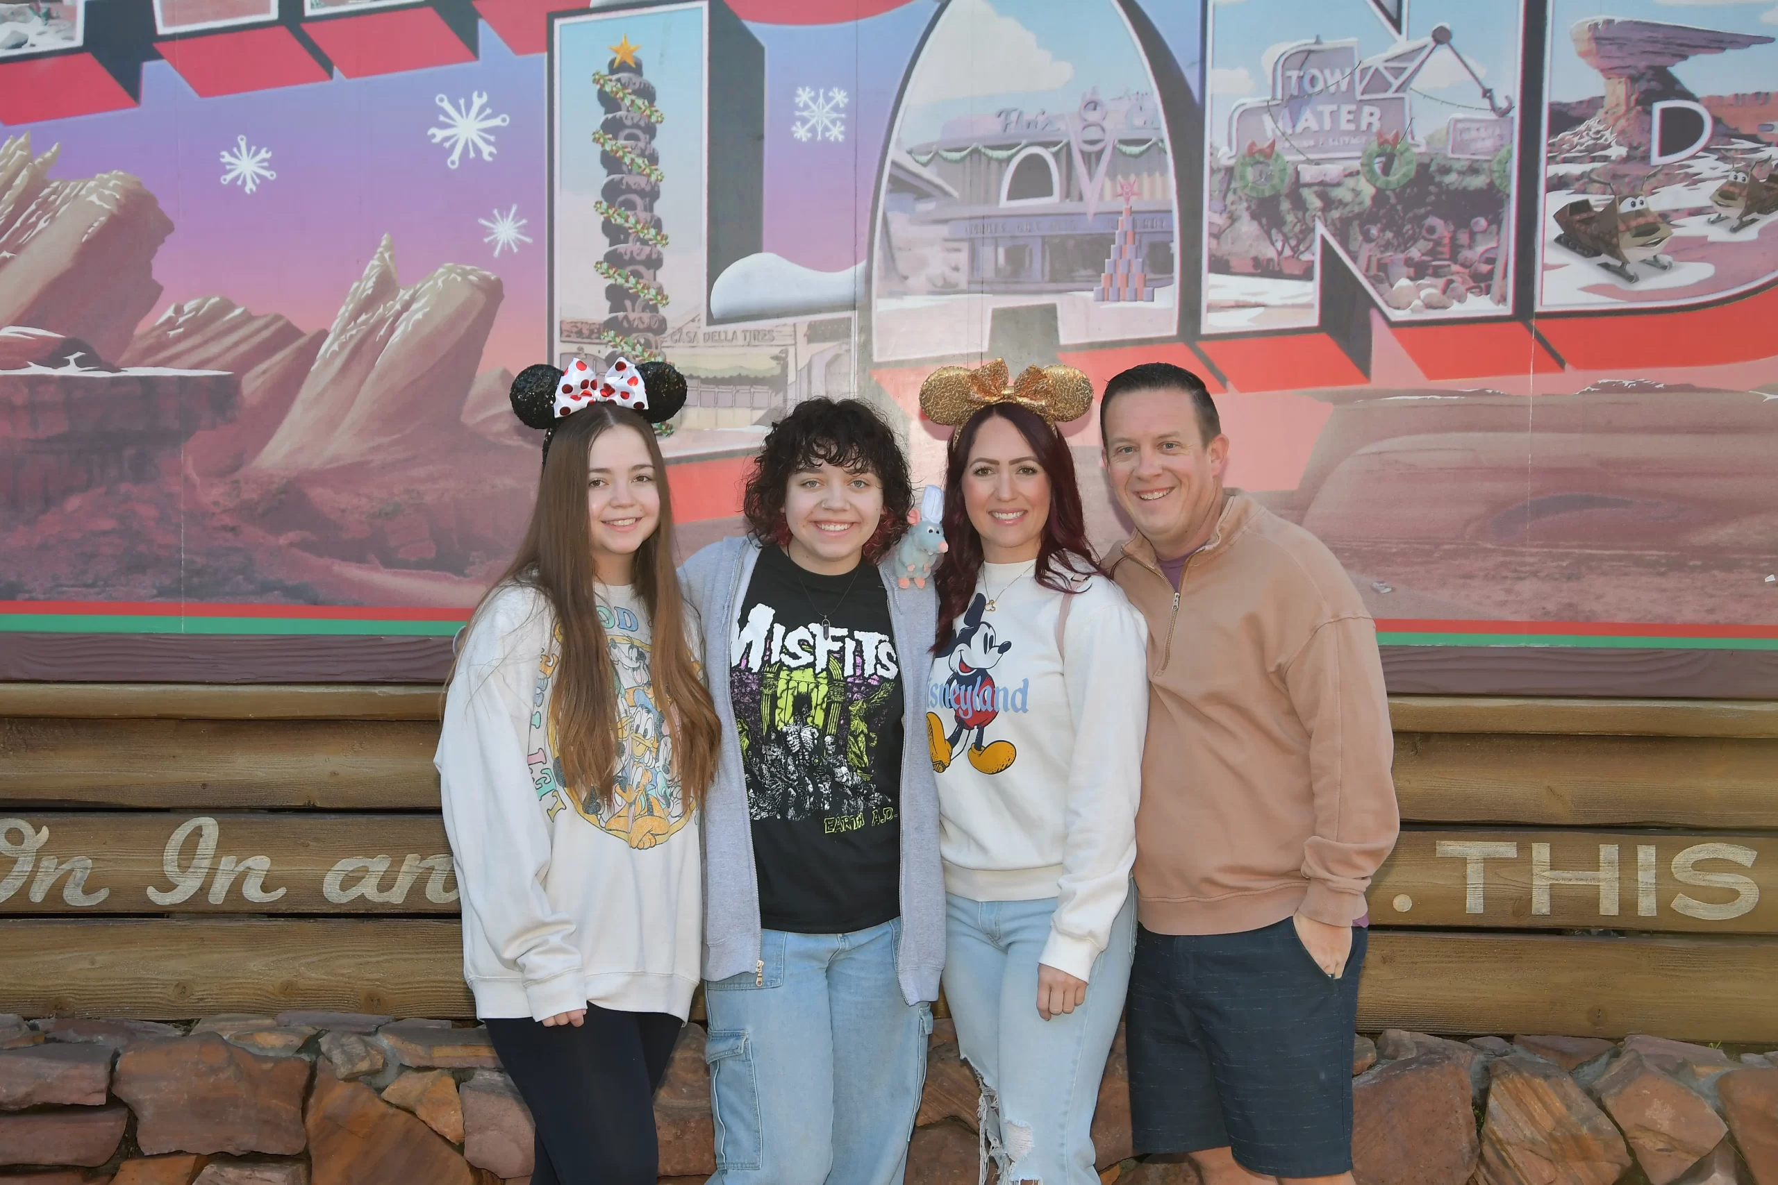
<svg viewBox="0 0 1778 1185">
<path fill-rule="evenodd" d="M 878 178 L 878 361 L 981 354 L 996 309 L 1053 309 L 1070 346 L 1179 322 L 1173 156 L 1127 18 L 1024 18 L 955 0 L 912 64 Z"/>
</svg>

